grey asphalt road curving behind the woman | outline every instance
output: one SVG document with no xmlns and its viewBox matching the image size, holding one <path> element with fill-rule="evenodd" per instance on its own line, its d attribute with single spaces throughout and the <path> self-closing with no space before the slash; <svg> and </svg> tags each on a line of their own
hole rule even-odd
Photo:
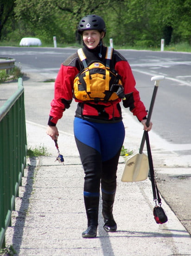
<svg viewBox="0 0 191 256">
<path fill-rule="evenodd" d="M 55 79 L 61 63 L 74 52 L 76 49 L 72 48 L 0 47 L 0 57 L 12 57 L 26 74 L 43 73 L 47 79 Z M 155 101 L 153 130 L 172 143 L 191 144 L 191 54 L 133 50 L 120 50 L 120 53 L 132 67 L 147 109 L 153 93 L 151 77 L 166 76 Z M 39 117 L 38 120 L 44 121 Z"/>
</svg>

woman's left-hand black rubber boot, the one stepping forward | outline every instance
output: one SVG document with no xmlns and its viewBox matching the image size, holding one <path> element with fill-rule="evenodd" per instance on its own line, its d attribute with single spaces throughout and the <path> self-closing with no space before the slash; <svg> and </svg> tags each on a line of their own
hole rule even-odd
<svg viewBox="0 0 191 256">
<path fill-rule="evenodd" d="M 82 233 L 82 237 L 94 238 L 97 236 L 99 197 L 84 196 L 84 202 L 88 218 L 88 228 Z"/>
</svg>

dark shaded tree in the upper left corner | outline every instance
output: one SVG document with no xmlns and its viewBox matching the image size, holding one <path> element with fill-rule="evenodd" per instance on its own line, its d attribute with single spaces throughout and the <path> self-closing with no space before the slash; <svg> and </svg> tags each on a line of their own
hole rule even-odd
<svg viewBox="0 0 191 256">
<path fill-rule="evenodd" d="M 1 0 L 0 1 L 0 40 L 2 31 L 7 21 L 13 16 L 14 0 Z"/>
</svg>

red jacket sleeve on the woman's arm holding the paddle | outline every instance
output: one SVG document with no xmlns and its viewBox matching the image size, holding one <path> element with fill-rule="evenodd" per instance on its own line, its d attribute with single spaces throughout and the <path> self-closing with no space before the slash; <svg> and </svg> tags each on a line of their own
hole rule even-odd
<svg viewBox="0 0 191 256">
<path fill-rule="evenodd" d="M 115 70 L 121 75 L 121 81 L 126 95 L 126 100 L 123 100 L 124 107 L 129 107 L 130 111 L 133 115 L 136 115 L 139 121 L 143 120 L 147 112 L 143 102 L 140 101 L 139 91 L 135 88 L 136 82 L 131 67 L 127 61 L 118 61 L 115 65 Z"/>
</svg>

